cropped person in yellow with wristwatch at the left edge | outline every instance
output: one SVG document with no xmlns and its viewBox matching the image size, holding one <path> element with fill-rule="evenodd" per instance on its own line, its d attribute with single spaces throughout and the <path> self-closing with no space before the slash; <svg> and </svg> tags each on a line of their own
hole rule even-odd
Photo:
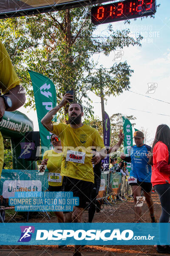
<svg viewBox="0 0 170 256">
<path fill-rule="evenodd" d="M 0 121 L 5 111 L 15 111 L 26 101 L 20 79 L 14 71 L 8 52 L 0 41 Z M 3 168 L 3 137 L 0 133 L 0 175 Z"/>
</svg>

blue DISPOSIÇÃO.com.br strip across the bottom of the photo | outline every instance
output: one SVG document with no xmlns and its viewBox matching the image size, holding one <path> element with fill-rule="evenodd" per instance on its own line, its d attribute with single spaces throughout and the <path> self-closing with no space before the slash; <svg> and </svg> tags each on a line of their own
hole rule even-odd
<svg viewBox="0 0 170 256">
<path fill-rule="evenodd" d="M 169 223 L 0 223 L 0 244 L 170 244 Z"/>
</svg>

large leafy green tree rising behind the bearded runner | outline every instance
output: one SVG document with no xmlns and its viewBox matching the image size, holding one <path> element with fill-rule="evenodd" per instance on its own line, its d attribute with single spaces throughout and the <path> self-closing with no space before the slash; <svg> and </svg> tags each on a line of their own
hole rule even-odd
<svg viewBox="0 0 170 256">
<path fill-rule="evenodd" d="M 89 24 L 83 29 L 89 17 L 90 7 L 40 14 L 36 16 L 0 20 L 0 38 L 3 40 L 29 96 L 25 107 L 35 109 L 33 90 L 27 69 L 42 73 L 50 78 L 57 90 L 59 102 L 66 90 L 74 89 L 76 100 L 84 102 L 85 115 L 93 114 L 91 99 L 86 90 L 91 83 L 96 95 L 101 96 L 99 84 L 103 87 L 102 97 L 117 95 L 129 89 L 129 78 L 133 70 L 126 62 L 115 63 L 108 71 L 103 67 L 97 70 L 92 55 L 103 53 L 106 56 L 115 49 L 129 45 L 141 45 L 142 36 L 135 39 L 130 30 L 113 31 L 110 35 L 95 36 L 96 26 Z M 96 71 L 94 71 L 96 70 Z M 99 72 L 105 78 L 100 83 Z M 66 113 L 67 109 L 65 109 Z"/>
</svg>

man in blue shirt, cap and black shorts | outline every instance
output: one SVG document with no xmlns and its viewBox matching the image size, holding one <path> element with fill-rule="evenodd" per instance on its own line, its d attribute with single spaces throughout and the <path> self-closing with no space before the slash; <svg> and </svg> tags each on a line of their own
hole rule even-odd
<svg viewBox="0 0 170 256">
<path fill-rule="evenodd" d="M 152 171 L 151 166 L 148 164 L 147 157 L 151 147 L 143 143 L 144 134 L 142 131 L 135 131 L 133 138 L 136 145 L 130 148 L 128 157 L 121 154 L 121 158 L 126 162 L 131 162 L 128 183 L 132 186 L 136 222 L 142 221 L 142 208 L 138 206 L 140 205 L 139 201 L 141 201 L 141 199 L 138 198 L 141 197 L 141 189 L 143 189 L 144 197 L 150 211 L 151 222 L 156 222 L 153 211 L 153 200 L 151 198 L 152 183 L 150 180 Z"/>
</svg>

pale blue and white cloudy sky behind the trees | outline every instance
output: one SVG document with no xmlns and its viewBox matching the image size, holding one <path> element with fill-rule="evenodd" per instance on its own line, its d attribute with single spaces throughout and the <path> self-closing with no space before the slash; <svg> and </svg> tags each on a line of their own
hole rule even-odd
<svg viewBox="0 0 170 256">
<path fill-rule="evenodd" d="M 142 47 L 130 46 L 122 49 L 120 61 L 127 61 L 130 69 L 134 70 L 130 78 L 130 90 L 124 91 L 120 96 L 111 96 L 105 102 L 105 111 L 109 116 L 114 113 L 135 116 L 135 128 L 148 129 L 150 139 L 154 138 L 158 125 L 170 126 L 170 1 L 157 0 L 157 4 L 159 3 L 161 6 L 154 19 L 138 18 L 136 21 L 130 20 L 130 25 L 123 21 L 111 23 L 115 30 L 129 28 L 133 36 L 139 33 L 144 39 L 141 41 Z M 108 24 L 99 25 L 95 35 L 107 35 L 107 27 Z M 115 62 L 115 53 L 111 52 L 107 57 L 103 54 L 95 55 L 93 58 L 99 65 L 109 68 Z M 154 87 L 154 90 L 147 93 L 149 86 Z M 94 116 L 102 119 L 99 97 L 92 92 L 88 96 L 93 100 Z M 26 113 L 34 122 L 34 131 L 39 131 L 35 112 L 27 112 L 28 109 L 23 107 L 19 111 Z"/>
</svg>

